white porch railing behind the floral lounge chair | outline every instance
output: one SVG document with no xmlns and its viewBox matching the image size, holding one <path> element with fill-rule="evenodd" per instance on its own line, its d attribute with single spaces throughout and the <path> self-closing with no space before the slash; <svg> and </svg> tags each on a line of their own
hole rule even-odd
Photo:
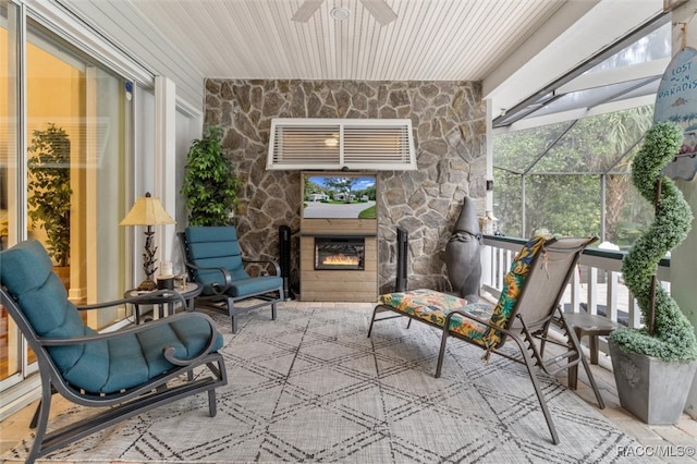
<svg viewBox="0 0 697 464">
<path fill-rule="evenodd" d="M 503 277 L 515 254 L 526 241 L 508 236 L 485 235 L 481 281 L 485 289 L 500 291 Z M 626 252 L 587 248 L 561 301 L 565 312 L 604 316 L 627 327 L 641 327 L 641 313 L 634 296 L 622 281 L 622 258 Z M 658 278 L 670 290 L 670 259 L 661 260 Z M 600 350 L 607 352 L 607 344 Z"/>
</svg>

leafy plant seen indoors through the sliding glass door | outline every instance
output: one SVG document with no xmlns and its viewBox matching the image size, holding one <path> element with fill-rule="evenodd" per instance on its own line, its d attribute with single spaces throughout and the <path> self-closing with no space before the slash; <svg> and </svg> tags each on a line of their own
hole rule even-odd
<svg viewBox="0 0 697 464">
<path fill-rule="evenodd" d="M 70 138 L 68 133 L 48 124 L 35 130 L 29 146 L 27 169 L 30 174 L 28 198 L 33 227 L 46 231 L 46 251 L 59 268 L 70 264 Z"/>
</svg>

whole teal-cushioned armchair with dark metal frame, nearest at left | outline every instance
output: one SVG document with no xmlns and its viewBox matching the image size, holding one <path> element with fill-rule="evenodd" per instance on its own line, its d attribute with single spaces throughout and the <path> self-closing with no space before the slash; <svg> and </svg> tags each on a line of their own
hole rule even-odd
<svg viewBox="0 0 697 464">
<path fill-rule="evenodd" d="M 80 308 L 99 309 L 132 301 Z M 195 393 L 208 393 L 209 414 L 216 415 L 215 389 L 224 386 L 228 378 L 217 352 L 222 335 L 206 315 L 181 313 L 125 330 L 97 333 L 85 326 L 78 308 L 68 300 L 46 249 L 36 241 L 0 252 L 0 303 L 36 353 L 41 376 L 36 439 L 27 462 L 119 420 Z M 203 373 L 194 379 L 193 369 L 199 366 L 210 375 Z M 47 434 L 54 392 L 83 406 L 101 407 L 101 412 Z"/>
</svg>

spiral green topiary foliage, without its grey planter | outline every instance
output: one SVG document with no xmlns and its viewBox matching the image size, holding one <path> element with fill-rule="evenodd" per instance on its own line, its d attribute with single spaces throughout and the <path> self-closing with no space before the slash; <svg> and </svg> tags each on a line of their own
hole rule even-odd
<svg viewBox="0 0 697 464">
<path fill-rule="evenodd" d="M 655 203 L 656 218 L 624 257 L 622 273 L 639 304 L 646 327 L 620 329 L 610 335 L 624 351 L 665 362 L 697 359 L 692 323 L 655 278 L 661 258 L 680 245 L 692 228 L 689 205 L 675 183 L 661 173 L 677 154 L 682 134 L 673 122 L 656 124 L 634 159 L 632 182 L 641 196 Z"/>
</svg>

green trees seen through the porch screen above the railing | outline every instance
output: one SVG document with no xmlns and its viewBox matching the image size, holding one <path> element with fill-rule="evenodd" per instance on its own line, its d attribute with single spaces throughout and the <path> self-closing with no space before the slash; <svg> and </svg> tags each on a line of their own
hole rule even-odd
<svg viewBox="0 0 697 464">
<path fill-rule="evenodd" d="M 651 123 L 652 107 L 643 107 L 498 135 L 493 212 L 500 231 L 510 236 L 537 229 L 600 235 L 604 175 L 604 237 L 628 248 L 652 215 L 629 181 L 632 159 Z"/>
</svg>

